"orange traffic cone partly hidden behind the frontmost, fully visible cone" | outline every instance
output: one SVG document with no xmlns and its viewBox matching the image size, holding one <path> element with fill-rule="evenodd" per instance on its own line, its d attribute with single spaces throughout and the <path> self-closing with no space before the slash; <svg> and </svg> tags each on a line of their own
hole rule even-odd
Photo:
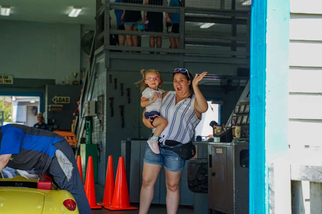
<svg viewBox="0 0 322 214">
<path fill-rule="evenodd" d="M 107 162 L 107 171 L 105 179 L 105 189 L 103 202 L 97 203 L 100 206 L 109 206 L 112 203 L 114 192 L 114 170 L 113 170 L 113 159 L 109 155 L 109 160 Z"/>
</svg>

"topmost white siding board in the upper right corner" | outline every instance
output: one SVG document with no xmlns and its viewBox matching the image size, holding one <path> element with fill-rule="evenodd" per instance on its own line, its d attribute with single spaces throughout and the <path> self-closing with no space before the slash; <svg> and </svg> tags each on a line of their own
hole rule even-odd
<svg viewBox="0 0 322 214">
<path fill-rule="evenodd" d="M 322 14 L 321 0 L 290 0 L 291 13 Z"/>
</svg>

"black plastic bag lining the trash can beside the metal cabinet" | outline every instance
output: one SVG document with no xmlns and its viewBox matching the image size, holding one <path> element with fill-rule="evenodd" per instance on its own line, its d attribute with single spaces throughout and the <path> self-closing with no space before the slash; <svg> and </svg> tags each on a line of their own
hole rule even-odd
<svg viewBox="0 0 322 214">
<path fill-rule="evenodd" d="M 208 193 L 208 159 L 191 159 L 188 163 L 188 187 L 194 193 Z"/>
</svg>

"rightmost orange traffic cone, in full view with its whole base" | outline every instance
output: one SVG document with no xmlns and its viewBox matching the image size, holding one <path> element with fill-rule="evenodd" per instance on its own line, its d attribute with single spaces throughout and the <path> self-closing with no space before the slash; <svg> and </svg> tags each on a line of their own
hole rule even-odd
<svg viewBox="0 0 322 214">
<path fill-rule="evenodd" d="M 124 158 L 118 158 L 118 171 L 116 173 L 115 189 L 111 205 L 104 208 L 109 210 L 137 210 L 137 207 L 130 206 L 128 195 L 128 182 L 126 180 Z"/>
</svg>

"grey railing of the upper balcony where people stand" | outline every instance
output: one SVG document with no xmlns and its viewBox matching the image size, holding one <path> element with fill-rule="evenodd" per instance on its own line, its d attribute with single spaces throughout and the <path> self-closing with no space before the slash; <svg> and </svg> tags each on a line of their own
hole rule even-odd
<svg viewBox="0 0 322 214">
<path fill-rule="evenodd" d="M 99 1 L 100 2 L 100 1 Z M 165 2 L 165 1 L 164 1 Z M 221 1 L 222 2 L 222 1 Z M 233 0 L 232 4 L 236 2 Z M 97 23 L 97 43 L 96 49 L 103 46 L 106 55 L 106 67 L 109 67 L 109 59 L 119 57 L 120 55 L 128 58 L 136 59 L 136 55 L 149 54 L 150 52 L 175 54 L 171 57 L 175 60 L 185 60 L 185 57 L 208 57 L 207 62 L 213 62 L 214 58 L 234 58 L 236 64 L 244 60 L 243 64 L 249 65 L 249 32 L 250 32 L 250 11 L 225 10 L 218 6 L 218 9 L 207 9 L 200 7 L 176 7 L 168 5 L 145 5 L 145 4 L 128 4 L 119 2 L 110 2 L 106 0 L 105 4 L 98 7 L 96 23 Z M 235 8 L 232 6 L 232 9 Z M 130 31 L 116 30 L 110 26 L 111 10 L 134 10 L 134 11 L 149 11 L 149 12 L 166 12 L 179 13 L 179 33 L 168 32 L 150 32 L 150 31 Z M 209 30 L 190 27 L 200 25 L 200 23 L 213 23 L 227 25 L 231 31 L 225 34 L 216 34 Z M 237 31 L 238 26 L 245 26 L 245 33 L 240 35 Z M 197 29 L 197 30 L 196 30 Z M 162 37 L 162 38 L 179 38 L 179 48 L 170 49 L 168 47 L 145 47 L 147 44 L 139 45 L 139 47 L 128 47 L 112 45 L 110 43 L 111 35 L 136 35 L 140 37 Z M 139 42 L 140 43 L 140 42 Z M 126 53 L 118 53 L 118 52 Z M 137 52 L 137 53 L 127 53 Z M 138 54 L 140 53 L 140 54 Z M 162 55 L 162 54 L 161 54 Z M 153 57 L 160 59 L 164 57 Z M 204 58 L 205 60 L 207 58 Z"/>
</svg>

